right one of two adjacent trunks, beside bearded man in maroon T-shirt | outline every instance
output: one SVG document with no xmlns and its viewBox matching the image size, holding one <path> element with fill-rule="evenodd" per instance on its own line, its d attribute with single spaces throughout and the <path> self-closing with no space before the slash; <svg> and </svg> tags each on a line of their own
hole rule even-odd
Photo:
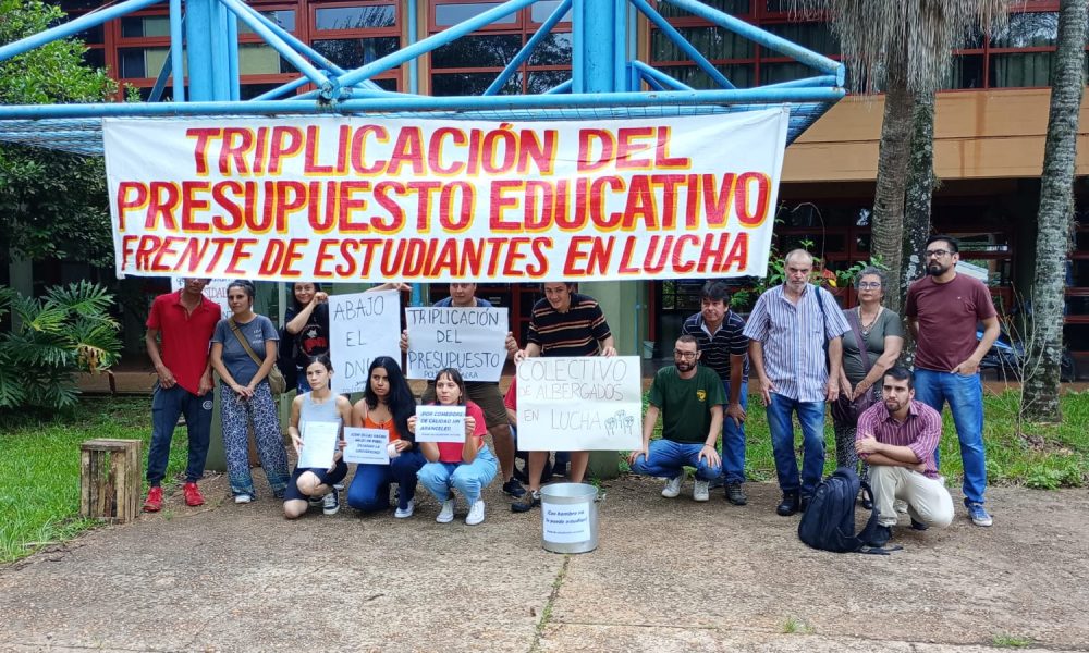
<svg viewBox="0 0 1089 653">
<path fill-rule="evenodd" d="M 930 236 L 930 202 L 934 196 L 934 94 L 915 97 L 911 118 L 911 160 L 907 171 L 907 193 L 904 208 L 904 276 L 901 297 L 907 297 L 907 286 L 922 276 L 922 249 Z M 905 324 L 906 326 L 906 324 Z M 915 340 L 904 329 L 904 354 L 901 359 L 910 365 L 915 358 Z"/>
</svg>

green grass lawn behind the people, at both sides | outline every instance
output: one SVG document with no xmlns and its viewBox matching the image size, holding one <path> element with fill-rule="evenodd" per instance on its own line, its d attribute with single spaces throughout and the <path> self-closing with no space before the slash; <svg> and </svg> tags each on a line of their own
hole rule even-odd
<svg viewBox="0 0 1089 653">
<path fill-rule="evenodd" d="M 1017 433 L 1017 395 L 1006 392 L 986 398 L 984 444 L 990 483 L 1055 489 L 1089 483 L 1089 393 L 1063 397 L 1064 421 L 1057 427 Z M 775 478 L 771 438 L 763 407 L 749 397 L 746 422 L 748 478 Z M 945 411 L 942 472 L 952 485 L 962 473 L 956 431 Z M 831 421 L 825 429 L 825 472 L 835 468 L 835 439 Z M 661 424 L 659 424 L 660 434 Z M 34 553 L 44 543 L 70 539 L 95 526 L 79 514 L 79 443 L 94 438 L 143 440 L 143 464 L 151 433 L 149 397 L 86 398 L 73 416 L 44 423 L 0 419 L 0 563 Z M 185 429 L 174 433 L 167 483 L 185 469 Z M 626 470 L 626 460 L 621 463 Z M 146 488 L 145 488 L 146 490 Z"/>
</svg>

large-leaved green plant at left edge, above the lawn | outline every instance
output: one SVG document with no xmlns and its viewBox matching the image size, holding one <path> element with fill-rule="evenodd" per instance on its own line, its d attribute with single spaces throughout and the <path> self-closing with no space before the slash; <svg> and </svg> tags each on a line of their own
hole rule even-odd
<svg viewBox="0 0 1089 653">
<path fill-rule="evenodd" d="M 52 287 L 37 299 L 0 287 L 0 317 L 11 311 L 17 318 L 17 328 L 0 334 L 0 410 L 74 406 L 77 373 L 99 373 L 118 360 L 112 300 L 88 281 Z"/>
</svg>

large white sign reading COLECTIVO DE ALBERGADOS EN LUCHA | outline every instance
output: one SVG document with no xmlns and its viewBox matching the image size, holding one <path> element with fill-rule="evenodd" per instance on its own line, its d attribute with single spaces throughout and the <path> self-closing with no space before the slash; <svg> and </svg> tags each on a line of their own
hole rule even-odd
<svg viewBox="0 0 1089 653">
<path fill-rule="evenodd" d="M 621 451 L 641 445 L 638 357 L 527 358 L 516 375 L 519 448 Z"/>
</svg>

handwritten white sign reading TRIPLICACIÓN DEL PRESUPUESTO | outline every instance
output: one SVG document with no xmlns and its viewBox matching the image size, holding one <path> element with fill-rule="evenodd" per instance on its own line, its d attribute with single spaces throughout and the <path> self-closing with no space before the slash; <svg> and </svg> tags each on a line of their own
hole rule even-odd
<svg viewBox="0 0 1089 653">
<path fill-rule="evenodd" d="M 409 379 L 457 368 L 466 381 L 499 381 L 506 362 L 505 308 L 406 308 Z"/>
</svg>

